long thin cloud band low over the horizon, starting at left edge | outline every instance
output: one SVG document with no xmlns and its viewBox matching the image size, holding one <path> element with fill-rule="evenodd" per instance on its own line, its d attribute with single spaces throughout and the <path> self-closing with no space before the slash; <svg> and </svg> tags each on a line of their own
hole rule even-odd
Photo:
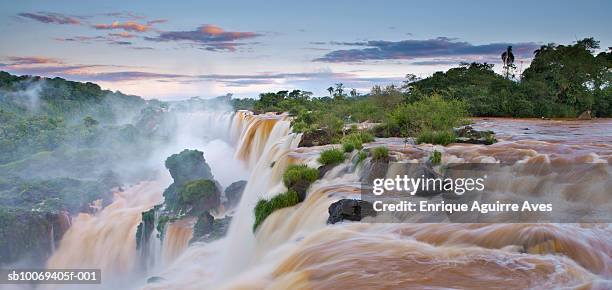
<svg viewBox="0 0 612 290">
<path fill-rule="evenodd" d="M 14 74 L 40 75 L 46 77 L 63 77 L 75 81 L 122 83 L 138 81 L 157 81 L 175 84 L 212 83 L 231 90 L 252 88 L 253 90 L 270 88 L 323 88 L 329 84 L 342 82 L 347 87 L 364 89 L 373 84 L 398 83 L 403 76 L 372 77 L 362 76 L 352 72 L 337 73 L 331 71 L 319 72 L 257 72 L 252 74 L 176 74 L 150 71 L 146 68 L 128 66 L 70 64 L 61 60 L 46 57 L 8 57 L 5 65 L 0 64 L 0 70 Z"/>
</svg>

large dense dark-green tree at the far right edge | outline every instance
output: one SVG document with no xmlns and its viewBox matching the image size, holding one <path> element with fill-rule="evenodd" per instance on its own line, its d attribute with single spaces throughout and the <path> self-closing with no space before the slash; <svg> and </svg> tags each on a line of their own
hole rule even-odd
<svg viewBox="0 0 612 290">
<path fill-rule="evenodd" d="M 599 42 L 585 38 L 573 45 L 549 44 L 534 52 L 521 86 L 539 116 L 576 117 L 591 110 L 609 115 L 606 101 L 610 71 L 604 57 L 595 57 Z"/>
</svg>

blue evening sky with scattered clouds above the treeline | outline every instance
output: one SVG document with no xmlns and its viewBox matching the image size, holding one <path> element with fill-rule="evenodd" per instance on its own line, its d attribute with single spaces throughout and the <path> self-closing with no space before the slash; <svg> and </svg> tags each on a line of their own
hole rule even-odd
<svg viewBox="0 0 612 290">
<path fill-rule="evenodd" d="M 335 83 L 364 93 L 461 62 L 612 46 L 612 1 L 2 1 L 0 70 L 146 99 L 257 97 Z"/>
</svg>

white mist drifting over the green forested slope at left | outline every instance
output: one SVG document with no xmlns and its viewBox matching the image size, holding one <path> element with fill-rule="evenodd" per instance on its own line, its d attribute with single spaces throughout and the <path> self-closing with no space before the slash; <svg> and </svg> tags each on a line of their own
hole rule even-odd
<svg viewBox="0 0 612 290">
<path fill-rule="evenodd" d="M 40 266 L 66 217 L 93 213 L 94 201 L 104 207 L 130 185 L 171 180 L 164 161 L 184 149 L 204 152 L 222 188 L 248 175 L 233 158 L 227 97 L 147 101 L 91 83 L 2 77 L 0 265 Z"/>
</svg>

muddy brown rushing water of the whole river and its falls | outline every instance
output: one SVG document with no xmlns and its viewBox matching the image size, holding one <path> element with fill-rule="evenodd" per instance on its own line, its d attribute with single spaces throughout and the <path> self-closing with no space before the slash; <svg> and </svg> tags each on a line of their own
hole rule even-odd
<svg viewBox="0 0 612 290">
<path fill-rule="evenodd" d="M 179 145 L 196 146 L 206 155 L 211 142 L 223 140 L 232 147 L 234 161 L 211 164 L 213 173 L 245 171 L 244 166 L 250 174 L 227 236 L 187 245 L 190 224 L 170 225 L 154 249 L 164 262 L 142 273 L 135 231 L 140 213 L 159 203 L 170 183 L 160 179 L 118 193 L 96 214 L 76 217 L 49 260 L 50 268 L 101 268 L 105 282 L 94 289 L 612 288 L 609 224 L 327 225 L 331 203 L 359 197 L 360 176 L 368 168 L 354 165 L 351 158 L 315 182 L 304 202 L 276 211 L 254 234 L 253 207 L 260 198 L 284 191 L 286 166 L 317 167 L 319 152 L 330 146 L 298 148 L 300 136 L 290 133 L 284 115 L 237 112 L 189 118 L 205 119 L 206 128 L 211 122 L 215 128 L 191 129 L 196 136 Z M 477 119 L 474 126 L 495 131 L 499 142 L 441 147 L 389 138 L 367 146 L 388 146 L 394 158 L 406 162 L 421 162 L 434 149 L 443 152 L 443 163 L 612 161 L 612 120 Z M 206 135 L 207 143 L 193 142 L 197 134 Z M 598 187 L 585 202 L 610 205 L 611 173 L 597 174 L 605 178 L 603 190 Z M 537 180 L 531 182 L 537 185 Z M 161 278 L 147 284 L 150 276 Z"/>
</svg>

